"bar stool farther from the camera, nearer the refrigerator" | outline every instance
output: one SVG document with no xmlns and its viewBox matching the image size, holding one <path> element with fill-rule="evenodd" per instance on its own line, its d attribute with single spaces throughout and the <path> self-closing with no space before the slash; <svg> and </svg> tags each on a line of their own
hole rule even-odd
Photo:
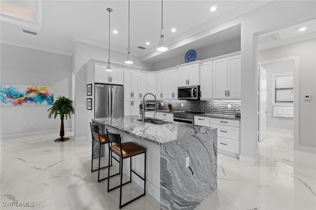
<svg viewBox="0 0 316 210">
<path fill-rule="evenodd" d="M 105 178 L 100 179 L 100 169 L 105 169 L 105 168 L 112 166 L 112 158 L 111 158 L 111 165 L 110 165 L 110 151 L 109 151 L 109 165 L 100 168 L 101 145 L 108 143 L 108 137 L 106 134 L 100 135 L 99 126 L 91 125 L 91 122 L 90 122 L 90 128 L 91 128 L 91 135 L 92 135 L 91 172 L 98 170 L 98 182 L 100 182 L 100 181 L 108 178 L 108 177 L 105 177 Z M 95 169 L 95 170 L 93 170 L 93 140 L 96 140 L 96 142 L 99 143 L 99 167 L 98 167 L 98 169 Z M 111 145 L 112 145 L 112 143 L 111 143 Z"/>
</svg>

